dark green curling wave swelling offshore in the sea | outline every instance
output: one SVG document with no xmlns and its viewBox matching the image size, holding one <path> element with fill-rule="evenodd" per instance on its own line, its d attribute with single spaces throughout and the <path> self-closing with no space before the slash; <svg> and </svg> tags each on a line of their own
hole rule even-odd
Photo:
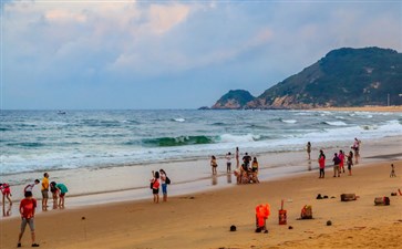
<svg viewBox="0 0 402 249">
<path fill-rule="evenodd" d="M 142 141 L 145 146 L 183 146 L 183 145 L 198 145 L 198 144 L 214 144 L 214 137 L 209 136 L 177 136 L 177 137 L 158 137 L 146 138 Z"/>
</svg>

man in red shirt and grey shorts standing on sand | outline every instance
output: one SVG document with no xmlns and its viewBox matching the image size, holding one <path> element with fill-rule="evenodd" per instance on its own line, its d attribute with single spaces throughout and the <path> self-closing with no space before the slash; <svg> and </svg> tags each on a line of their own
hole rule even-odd
<svg viewBox="0 0 402 249">
<path fill-rule="evenodd" d="M 21 239 L 22 235 L 25 230 L 27 224 L 29 225 L 31 229 L 31 238 L 32 238 L 32 247 L 39 247 L 38 243 L 35 243 L 35 232 L 34 232 L 34 215 L 35 215 L 35 208 L 37 208 L 37 200 L 32 198 L 32 191 L 25 191 L 24 194 L 25 198 L 21 200 L 20 203 L 20 214 L 21 214 L 21 231 L 18 237 L 18 245 L 17 247 L 21 247 Z"/>
</svg>

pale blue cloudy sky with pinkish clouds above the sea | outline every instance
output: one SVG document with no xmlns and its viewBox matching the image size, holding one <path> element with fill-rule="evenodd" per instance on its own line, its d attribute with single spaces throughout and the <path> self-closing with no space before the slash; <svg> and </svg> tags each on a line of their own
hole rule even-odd
<svg viewBox="0 0 402 249">
<path fill-rule="evenodd" d="M 339 48 L 402 52 L 402 1 L 1 0 L 1 110 L 212 106 Z"/>
</svg>

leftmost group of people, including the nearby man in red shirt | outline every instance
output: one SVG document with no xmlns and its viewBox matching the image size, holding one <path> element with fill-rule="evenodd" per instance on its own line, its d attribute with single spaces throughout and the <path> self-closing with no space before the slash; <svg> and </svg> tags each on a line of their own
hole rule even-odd
<svg viewBox="0 0 402 249">
<path fill-rule="evenodd" d="M 20 201 L 19 211 L 21 215 L 21 229 L 18 237 L 18 245 L 17 247 L 21 247 L 21 239 L 23 232 L 25 230 L 27 225 L 30 227 L 31 230 L 31 240 L 32 247 L 39 247 L 35 242 L 35 232 L 34 232 L 34 215 L 35 208 L 38 206 L 37 199 L 33 198 L 33 188 L 35 185 L 39 185 L 41 181 L 35 179 L 32 184 L 28 184 L 23 188 L 23 196 L 24 198 Z M 2 204 L 3 204 L 3 215 L 6 216 L 6 198 L 9 200 L 9 207 L 11 209 L 12 200 L 11 200 L 11 188 L 10 185 L 7 183 L 0 184 L 0 189 L 2 193 Z M 64 196 L 69 191 L 64 184 L 56 184 L 55 181 L 49 181 L 49 174 L 43 174 L 42 185 L 41 185 L 41 194 L 42 194 L 42 210 L 48 210 L 48 199 L 49 199 L 49 190 L 52 193 L 53 197 L 53 209 L 60 207 L 64 208 Z"/>
</svg>

